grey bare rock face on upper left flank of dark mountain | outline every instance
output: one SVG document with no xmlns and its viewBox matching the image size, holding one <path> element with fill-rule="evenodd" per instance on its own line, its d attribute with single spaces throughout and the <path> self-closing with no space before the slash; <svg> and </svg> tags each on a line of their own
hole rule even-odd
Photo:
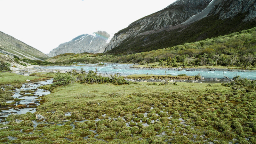
<svg viewBox="0 0 256 144">
<path fill-rule="evenodd" d="M 160 30 L 176 26 L 193 15 L 202 12 L 212 0 L 178 0 L 163 10 L 148 15 L 130 24 L 114 35 L 104 52 L 112 50 L 123 40 L 150 30 Z"/>
</svg>

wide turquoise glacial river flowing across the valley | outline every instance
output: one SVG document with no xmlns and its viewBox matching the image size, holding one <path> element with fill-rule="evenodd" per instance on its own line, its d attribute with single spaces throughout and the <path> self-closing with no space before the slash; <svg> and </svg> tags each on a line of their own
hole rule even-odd
<svg viewBox="0 0 256 144">
<path fill-rule="evenodd" d="M 84 68 L 86 72 L 89 70 L 95 71 L 97 68 L 98 73 L 101 74 L 116 74 L 119 73 L 122 76 L 128 76 L 133 74 L 154 74 L 154 75 L 173 75 L 177 76 L 179 74 L 186 74 L 188 76 L 196 76 L 200 74 L 204 78 L 224 78 L 223 72 L 225 76 L 229 78 L 233 78 L 234 76 L 241 76 L 249 79 L 256 79 L 256 71 L 255 70 L 235 70 L 235 69 L 188 69 L 181 70 L 172 69 L 172 68 L 130 68 L 133 64 L 106 64 L 106 66 L 98 66 L 97 64 L 80 64 L 81 66 L 47 66 L 40 67 L 41 69 L 61 69 L 61 70 L 70 70 L 76 69 L 80 70 Z M 166 72 L 166 73 L 165 73 Z"/>
</svg>

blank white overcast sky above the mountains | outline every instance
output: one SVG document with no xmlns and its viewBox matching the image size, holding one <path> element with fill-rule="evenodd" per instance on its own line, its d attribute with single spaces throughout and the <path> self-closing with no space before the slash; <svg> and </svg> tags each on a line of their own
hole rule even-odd
<svg viewBox="0 0 256 144">
<path fill-rule="evenodd" d="M 49 53 L 82 34 L 114 34 L 174 1 L 0 0 L 0 31 Z"/>
</svg>

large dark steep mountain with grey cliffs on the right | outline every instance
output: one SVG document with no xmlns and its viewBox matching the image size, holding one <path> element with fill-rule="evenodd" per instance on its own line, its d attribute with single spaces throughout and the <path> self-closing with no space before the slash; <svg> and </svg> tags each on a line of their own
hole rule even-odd
<svg viewBox="0 0 256 144">
<path fill-rule="evenodd" d="M 177 0 L 114 35 L 104 52 L 146 52 L 256 26 L 255 0 Z"/>
</svg>

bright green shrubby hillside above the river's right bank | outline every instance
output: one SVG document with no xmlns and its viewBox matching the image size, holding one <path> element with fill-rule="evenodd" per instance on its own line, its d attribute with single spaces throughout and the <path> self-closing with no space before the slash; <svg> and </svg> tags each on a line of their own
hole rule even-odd
<svg viewBox="0 0 256 144">
<path fill-rule="evenodd" d="M 156 51 L 121 56 L 113 62 L 141 64 L 159 62 L 160 66 L 169 67 L 207 65 L 256 67 L 256 28 Z"/>
</svg>

